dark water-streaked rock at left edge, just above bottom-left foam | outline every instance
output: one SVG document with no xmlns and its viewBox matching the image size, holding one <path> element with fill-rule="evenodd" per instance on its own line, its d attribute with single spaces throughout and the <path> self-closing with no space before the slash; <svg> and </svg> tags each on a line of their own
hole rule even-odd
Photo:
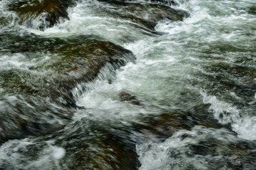
<svg viewBox="0 0 256 170">
<path fill-rule="evenodd" d="M 74 112 L 42 97 L 21 94 L 0 97 L 0 104 L 0 144 L 56 132 L 71 121 Z"/>
</svg>

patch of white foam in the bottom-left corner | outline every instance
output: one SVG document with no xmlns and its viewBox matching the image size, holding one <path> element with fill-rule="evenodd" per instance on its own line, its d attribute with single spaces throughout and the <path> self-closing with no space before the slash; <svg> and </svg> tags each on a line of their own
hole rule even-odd
<svg viewBox="0 0 256 170">
<path fill-rule="evenodd" d="M 20 168 L 20 162 L 22 162 L 24 169 L 60 169 L 59 160 L 65 156 L 64 148 L 46 141 L 46 146 L 43 146 L 38 153 L 33 153 L 38 155 L 38 159 L 33 160 L 27 157 L 27 154 L 30 154 L 28 148 L 33 147 L 34 144 L 39 143 L 32 142 L 29 138 L 9 140 L 0 147 L 0 161 L 10 161 L 15 168 Z"/>
</svg>

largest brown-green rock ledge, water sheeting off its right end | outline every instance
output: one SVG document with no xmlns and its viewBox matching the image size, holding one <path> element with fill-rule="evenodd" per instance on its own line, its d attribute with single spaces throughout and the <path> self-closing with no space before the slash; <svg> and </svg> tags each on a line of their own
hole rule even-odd
<svg viewBox="0 0 256 170">
<path fill-rule="evenodd" d="M 1 71 L 1 86 L 8 93 L 26 93 L 48 97 L 68 107 L 76 107 L 71 90 L 79 83 L 93 81 L 102 69 L 115 75 L 115 70 L 127 62 L 135 62 L 131 51 L 111 42 L 104 42 L 90 36 L 72 38 L 43 38 L 34 35 L 2 36 L 2 51 L 22 52 L 27 60 L 38 60 L 28 70 L 9 69 Z M 19 40 L 11 43 L 11 40 Z M 40 62 L 42 55 L 50 55 L 46 62 Z M 37 57 L 37 58 L 34 58 Z M 45 72 L 46 71 L 46 72 Z M 100 76 L 102 79 L 109 77 Z"/>
</svg>

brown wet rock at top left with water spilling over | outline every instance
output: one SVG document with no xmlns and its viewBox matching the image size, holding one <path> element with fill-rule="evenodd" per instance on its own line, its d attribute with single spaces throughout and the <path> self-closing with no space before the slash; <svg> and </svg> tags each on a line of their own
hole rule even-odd
<svg viewBox="0 0 256 170">
<path fill-rule="evenodd" d="M 74 5 L 75 0 L 22 0 L 10 1 L 8 7 L 18 14 L 19 24 L 44 30 L 69 19 L 67 8 Z"/>
</svg>

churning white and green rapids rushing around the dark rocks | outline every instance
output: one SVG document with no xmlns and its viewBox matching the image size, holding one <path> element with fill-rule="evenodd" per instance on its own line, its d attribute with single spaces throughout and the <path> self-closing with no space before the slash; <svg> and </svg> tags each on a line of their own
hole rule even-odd
<svg viewBox="0 0 256 170">
<path fill-rule="evenodd" d="M 4 3 L 1 1 L 1 5 Z M 65 127 L 67 133 L 72 130 L 77 133 L 85 119 L 122 130 L 163 113 L 185 114 L 187 123 L 185 120 L 180 123 L 183 117 L 178 116 L 180 126 L 167 125 L 166 129 L 160 129 L 170 131 L 170 136 L 159 139 L 147 130 L 127 136 L 137 142 L 139 169 L 253 169 L 256 165 L 251 161 L 255 159 L 256 145 L 256 17 L 251 10 L 256 3 L 253 0 L 178 3 L 173 8 L 187 11 L 189 17 L 177 22 L 158 21 L 155 30 L 160 34 L 108 15 L 102 8 L 112 9 L 98 1 L 79 1 L 68 9 L 70 20 L 44 32 L 24 26 L 18 26 L 18 30 L 45 38 L 96 35 L 131 50 L 137 58 L 136 62 L 128 62 L 115 71 L 115 75 L 103 69 L 96 80 L 81 83 L 72 90 L 77 105 L 84 110 L 75 111 L 71 123 Z M 14 15 L 1 10 L 1 15 L 11 18 Z M 0 67 L 26 70 L 49 58 L 27 60 L 24 54 L 2 55 Z M 111 83 L 104 77 L 110 77 Z M 86 88 L 83 93 L 82 88 Z M 135 95 L 141 105 L 120 101 L 121 91 Z M 174 124 L 175 119 L 170 118 Z M 117 130 L 117 134 L 122 133 Z M 7 159 L 16 167 L 24 165 L 25 169 L 61 169 L 60 160 L 68 155 L 65 144 L 59 146 L 55 140 L 62 138 L 66 139 L 65 132 L 53 138 L 9 140 L 1 145 L 0 159 Z M 247 148 L 241 146 L 236 151 L 241 153 L 232 153 L 236 148 L 232 146 L 244 143 Z M 36 144 L 42 146 L 37 148 L 39 156 L 35 161 L 19 153 L 26 146 Z M 199 147 L 198 152 L 193 147 Z M 101 151 L 101 148 L 94 149 Z M 232 162 L 230 167 L 228 161 Z"/>
</svg>

